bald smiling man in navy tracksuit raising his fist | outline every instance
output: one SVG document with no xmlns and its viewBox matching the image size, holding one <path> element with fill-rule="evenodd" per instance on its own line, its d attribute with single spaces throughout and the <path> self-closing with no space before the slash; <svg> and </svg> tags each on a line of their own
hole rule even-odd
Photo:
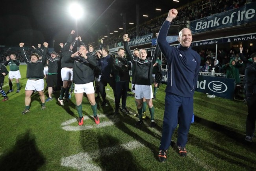
<svg viewBox="0 0 256 171">
<path fill-rule="evenodd" d="M 190 29 L 180 31 L 178 48 L 171 47 L 166 41 L 171 21 L 178 11 L 171 9 L 158 34 L 158 45 L 166 57 L 168 65 L 168 82 L 165 89 L 165 112 L 163 116 L 163 132 L 158 158 L 166 161 L 167 149 L 171 144 L 173 131 L 178 125 L 177 146 L 182 157 L 187 156 L 185 145 L 193 116 L 193 94 L 197 86 L 200 66 L 200 55 L 191 49 L 192 34 Z"/>
</svg>

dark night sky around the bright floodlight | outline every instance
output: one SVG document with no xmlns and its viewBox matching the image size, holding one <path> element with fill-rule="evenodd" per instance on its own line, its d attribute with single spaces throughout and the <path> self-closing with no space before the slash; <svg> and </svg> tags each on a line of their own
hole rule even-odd
<svg viewBox="0 0 256 171">
<path fill-rule="evenodd" d="M 83 17 L 72 18 L 68 6 L 78 2 L 83 7 Z M 97 42 L 99 36 L 107 35 L 109 31 L 119 30 L 123 26 L 122 13 L 126 13 L 126 28 L 128 23 L 136 24 L 136 3 L 140 5 L 140 16 L 149 15 L 147 20 L 167 13 L 171 8 L 177 8 L 189 2 L 180 0 L 2 0 L 0 10 L 0 45 L 19 46 L 37 45 L 48 42 L 50 46 L 58 46 L 66 42 L 71 30 L 77 31 L 85 44 Z M 110 6 L 110 7 L 109 7 Z M 162 11 L 156 11 L 155 8 Z M 76 13 L 76 9 L 74 9 Z M 144 22 L 140 17 L 140 22 Z M 134 25 L 135 26 L 135 25 Z M 53 42 L 55 40 L 55 42 Z"/>
</svg>

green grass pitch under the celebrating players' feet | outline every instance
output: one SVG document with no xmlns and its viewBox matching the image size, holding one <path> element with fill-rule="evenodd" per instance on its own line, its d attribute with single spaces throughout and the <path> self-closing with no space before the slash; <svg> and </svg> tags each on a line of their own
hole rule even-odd
<svg viewBox="0 0 256 171">
<path fill-rule="evenodd" d="M 7 68 L 9 70 L 9 68 Z M 208 98 L 195 93 L 195 123 L 188 135 L 188 156 L 181 158 L 170 146 L 167 162 L 158 162 L 161 128 L 163 124 L 165 85 L 161 85 L 156 100 L 157 126 L 150 128 L 150 120 L 136 127 L 137 112 L 134 97 L 127 97 L 130 115 L 120 112 L 114 116 L 112 89 L 107 90 L 108 107 L 100 107 L 100 124 L 96 125 L 89 101 L 83 99 L 85 120 L 78 126 L 75 98 L 64 107 L 59 106 L 59 92 L 41 110 L 39 95 L 32 95 L 30 112 L 24 110 L 26 66 L 20 66 L 21 91 L 13 80 L 14 92 L 9 100 L 0 101 L 0 168 L 15 171 L 70 171 L 70 170 L 256 170 L 256 143 L 247 143 L 245 120 L 247 106 L 239 101 L 220 97 Z M 9 90 L 8 77 L 3 89 Z M 48 96 L 47 91 L 45 95 Z M 147 108 L 147 116 L 150 116 Z M 177 132 L 173 134 L 176 142 Z"/>
</svg>

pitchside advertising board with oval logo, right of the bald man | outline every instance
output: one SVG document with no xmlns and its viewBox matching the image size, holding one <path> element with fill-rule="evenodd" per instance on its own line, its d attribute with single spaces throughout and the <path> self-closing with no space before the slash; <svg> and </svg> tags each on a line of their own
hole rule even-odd
<svg viewBox="0 0 256 171">
<path fill-rule="evenodd" d="M 235 79 L 198 75 L 197 92 L 214 94 L 218 97 L 233 99 Z"/>
</svg>

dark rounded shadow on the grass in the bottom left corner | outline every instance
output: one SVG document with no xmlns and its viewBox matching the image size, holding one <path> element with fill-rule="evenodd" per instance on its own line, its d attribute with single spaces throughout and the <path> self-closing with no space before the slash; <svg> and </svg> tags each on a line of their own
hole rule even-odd
<svg viewBox="0 0 256 171">
<path fill-rule="evenodd" d="M 45 157 L 36 146 L 30 131 L 17 137 L 15 146 L 0 156 L 1 170 L 35 171 L 45 164 Z"/>
</svg>

